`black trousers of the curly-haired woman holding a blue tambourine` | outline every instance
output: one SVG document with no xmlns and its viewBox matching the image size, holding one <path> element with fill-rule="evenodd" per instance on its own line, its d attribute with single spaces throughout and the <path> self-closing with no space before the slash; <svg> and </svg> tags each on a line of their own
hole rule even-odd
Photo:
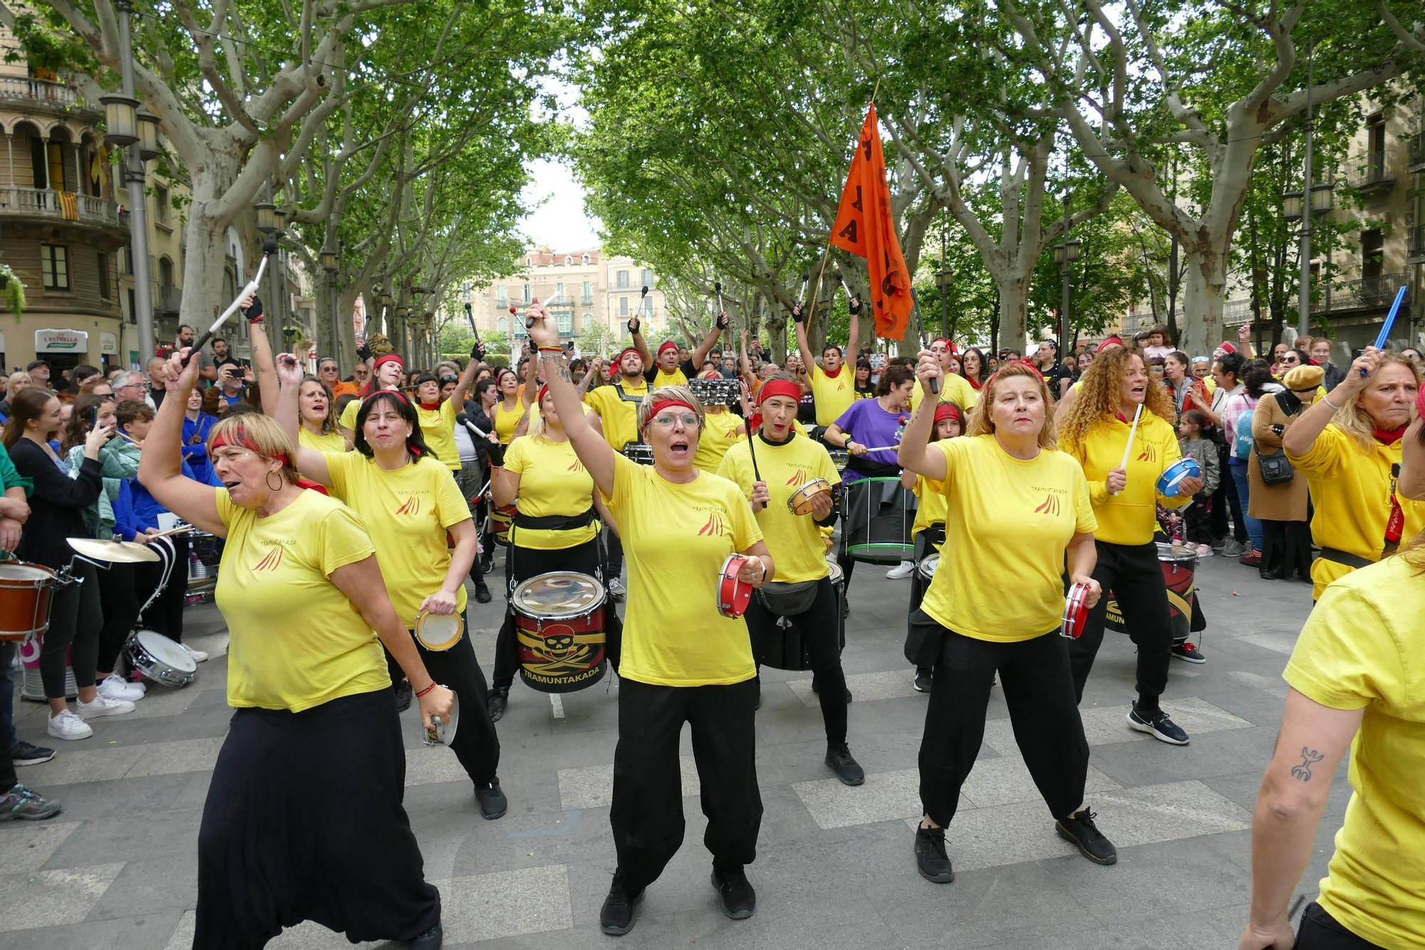
<svg viewBox="0 0 1425 950">
<path fill-rule="evenodd" d="M 1139 648 L 1139 709 L 1151 712 L 1167 689 L 1167 665 L 1173 662 L 1171 608 L 1167 602 L 1167 585 L 1163 583 L 1163 568 L 1159 566 L 1157 545 L 1113 545 L 1107 541 L 1093 543 L 1099 549 L 1093 579 L 1103 586 L 1103 596 L 1089 611 L 1083 636 L 1069 642 L 1074 695 L 1083 699 L 1083 685 L 1089 680 L 1093 659 L 1103 645 L 1112 589 L 1129 635 Z"/>
</svg>

